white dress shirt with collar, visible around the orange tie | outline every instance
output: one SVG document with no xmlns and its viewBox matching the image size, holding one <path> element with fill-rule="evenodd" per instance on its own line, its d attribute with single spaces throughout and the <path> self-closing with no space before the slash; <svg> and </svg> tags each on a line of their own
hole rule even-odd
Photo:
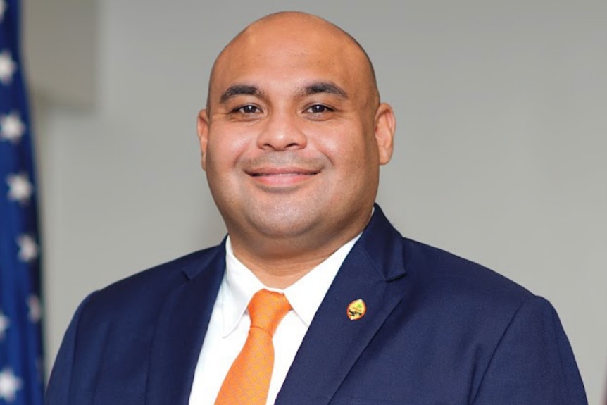
<svg viewBox="0 0 607 405">
<path fill-rule="evenodd" d="M 339 267 L 360 236 L 359 234 L 344 244 L 323 263 L 284 290 L 265 287 L 251 270 L 234 256 L 230 237 L 227 237 L 225 275 L 196 365 L 189 405 L 215 403 L 227 371 L 249 334 L 251 320 L 246 306 L 249 305 L 251 297 L 264 288 L 284 293 L 292 307 L 278 325 L 273 337 L 274 369 L 267 404 L 274 404 L 312 318 L 325 298 Z"/>
</svg>

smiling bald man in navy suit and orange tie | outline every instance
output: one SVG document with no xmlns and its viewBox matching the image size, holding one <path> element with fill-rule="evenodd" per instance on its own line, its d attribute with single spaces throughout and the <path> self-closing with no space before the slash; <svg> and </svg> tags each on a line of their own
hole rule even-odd
<svg viewBox="0 0 607 405">
<path fill-rule="evenodd" d="M 585 404 L 547 301 L 374 206 L 394 129 L 346 32 L 303 13 L 247 27 L 198 120 L 229 237 L 87 297 L 47 404 Z M 246 360 L 268 289 L 288 302 Z"/>
</svg>

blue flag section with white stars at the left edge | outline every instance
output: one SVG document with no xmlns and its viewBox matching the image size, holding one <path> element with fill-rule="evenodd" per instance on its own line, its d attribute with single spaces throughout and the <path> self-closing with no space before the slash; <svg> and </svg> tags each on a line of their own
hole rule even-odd
<svg viewBox="0 0 607 405">
<path fill-rule="evenodd" d="M 19 2 L 0 0 L 0 405 L 42 405 L 40 255 Z"/>
</svg>

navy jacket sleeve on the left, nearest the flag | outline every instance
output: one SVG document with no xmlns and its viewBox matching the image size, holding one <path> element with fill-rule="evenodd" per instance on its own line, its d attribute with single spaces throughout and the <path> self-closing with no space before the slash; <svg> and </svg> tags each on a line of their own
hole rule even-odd
<svg viewBox="0 0 607 405">
<path fill-rule="evenodd" d="M 45 405 L 72 404 L 72 402 L 70 402 L 70 383 L 72 381 L 74 353 L 77 344 L 78 323 L 80 316 L 82 315 L 82 310 L 94 294 L 95 293 L 89 294 L 89 296 L 82 301 L 80 306 L 78 306 L 68 330 L 63 336 L 63 342 L 61 342 L 61 347 L 59 348 L 53 370 L 51 371 L 49 385 L 46 387 L 46 394 L 44 394 Z"/>
</svg>

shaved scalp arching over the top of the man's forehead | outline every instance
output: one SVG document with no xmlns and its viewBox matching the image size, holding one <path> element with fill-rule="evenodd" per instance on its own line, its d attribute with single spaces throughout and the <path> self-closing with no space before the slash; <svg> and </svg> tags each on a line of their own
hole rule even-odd
<svg viewBox="0 0 607 405">
<path fill-rule="evenodd" d="M 375 70 L 361 44 L 342 28 L 316 15 L 298 11 L 282 11 L 266 15 L 251 23 L 220 52 L 211 70 L 207 109 L 211 107 L 212 90 L 213 87 L 216 87 L 214 79 L 218 70 L 229 69 L 230 65 L 237 63 L 243 49 L 262 48 L 271 43 L 278 47 L 284 46 L 285 52 L 287 47 L 296 52 L 297 42 L 299 42 L 301 51 L 305 51 L 310 46 L 314 46 L 312 42 L 314 39 L 317 40 L 318 48 L 325 50 L 325 56 L 334 58 L 334 63 L 339 63 L 340 56 L 346 56 L 342 62 L 353 63 L 349 68 L 356 69 L 362 75 L 363 85 L 370 98 L 367 103 L 377 106 L 380 103 L 380 94 L 377 89 Z"/>
</svg>

